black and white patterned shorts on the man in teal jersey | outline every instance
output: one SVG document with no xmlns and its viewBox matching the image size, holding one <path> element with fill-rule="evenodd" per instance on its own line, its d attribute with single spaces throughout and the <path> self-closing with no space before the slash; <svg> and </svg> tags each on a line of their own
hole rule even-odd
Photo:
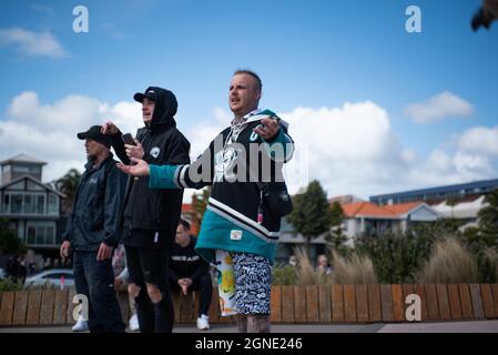
<svg viewBox="0 0 498 355">
<path fill-rule="evenodd" d="M 232 253 L 238 314 L 270 314 L 272 265 L 260 255 Z"/>
</svg>

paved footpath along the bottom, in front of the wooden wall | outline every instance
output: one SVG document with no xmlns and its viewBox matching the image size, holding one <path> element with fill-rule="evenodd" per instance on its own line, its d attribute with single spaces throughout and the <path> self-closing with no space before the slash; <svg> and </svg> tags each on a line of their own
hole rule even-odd
<svg viewBox="0 0 498 355">
<path fill-rule="evenodd" d="M 174 333 L 201 333 L 194 325 L 179 325 Z M 236 333 L 234 325 L 215 324 L 202 333 Z M 399 324 L 274 324 L 273 333 L 498 333 L 498 321 Z M 0 327 L 0 333 L 71 333 L 70 326 Z"/>
</svg>

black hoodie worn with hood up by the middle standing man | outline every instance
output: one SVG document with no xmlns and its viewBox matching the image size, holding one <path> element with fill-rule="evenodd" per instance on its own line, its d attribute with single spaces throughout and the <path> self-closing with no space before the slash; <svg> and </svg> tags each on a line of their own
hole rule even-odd
<svg viewBox="0 0 498 355">
<path fill-rule="evenodd" d="M 156 87 L 148 88 L 148 97 L 151 90 L 155 93 L 151 123 L 136 132 L 136 139 L 145 152 L 143 160 L 159 165 L 189 164 L 190 143 L 176 129 L 173 119 L 177 108 L 176 98 L 171 91 Z M 113 135 L 112 146 L 121 161 L 130 164 L 121 132 Z M 173 240 L 180 221 L 182 200 L 183 190 L 153 190 L 149 189 L 149 176 L 130 176 L 121 215 L 123 242 L 136 246 L 151 245 L 151 241 L 128 240 L 130 229 L 166 232 Z"/>
</svg>

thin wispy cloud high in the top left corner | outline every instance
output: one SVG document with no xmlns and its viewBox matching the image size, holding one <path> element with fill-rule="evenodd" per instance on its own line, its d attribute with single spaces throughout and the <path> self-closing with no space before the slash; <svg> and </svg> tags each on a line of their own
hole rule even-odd
<svg viewBox="0 0 498 355">
<path fill-rule="evenodd" d="M 0 29 L 0 47 L 13 45 L 28 55 L 62 58 L 68 55 L 61 43 L 52 33 L 33 32 L 22 28 Z"/>
</svg>

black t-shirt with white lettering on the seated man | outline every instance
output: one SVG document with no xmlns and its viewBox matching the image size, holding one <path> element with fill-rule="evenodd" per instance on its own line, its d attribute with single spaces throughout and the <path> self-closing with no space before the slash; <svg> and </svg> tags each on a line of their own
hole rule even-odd
<svg viewBox="0 0 498 355">
<path fill-rule="evenodd" d="M 189 277 L 193 282 L 199 281 L 210 270 L 210 264 L 195 252 L 196 239 L 191 236 L 191 242 L 183 247 L 173 243 L 170 253 L 170 281 L 176 283 L 179 278 Z"/>
</svg>

